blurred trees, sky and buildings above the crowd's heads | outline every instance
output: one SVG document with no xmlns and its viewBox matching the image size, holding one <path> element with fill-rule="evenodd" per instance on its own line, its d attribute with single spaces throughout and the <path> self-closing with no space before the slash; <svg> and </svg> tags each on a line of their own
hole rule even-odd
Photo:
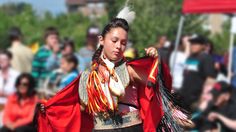
<svg viewBox="0 0 236 132">
<path fill-rule="evenodd" d="M 1 47 L 7 47 L 6 31 L 19 26 L 27 45 L 42 43 L 41 34 L 49 25 L 58 27 L 61 36 L 70 34 L 79 48 L 85 42 L 90 25 L 102 28 L 122 8 L 125 0 L 1 0 Z M 174 40 L 181 15 L 182 0 L 130 1 L 137 19 L 132 24 L 130 39 L 139 50 L 166 35 Z M 142 10 L 140 10 L 142 9 Z M 11 17 L 9 17 L 9 15 Z M 227 49 L 229 19 L 225 15 L 191 15 L 187 18 L 184 34 L 201 33 L 212 38 L 220 53 Z M 32 32 L 34 33 L 32 35 Z"/>
</svg>

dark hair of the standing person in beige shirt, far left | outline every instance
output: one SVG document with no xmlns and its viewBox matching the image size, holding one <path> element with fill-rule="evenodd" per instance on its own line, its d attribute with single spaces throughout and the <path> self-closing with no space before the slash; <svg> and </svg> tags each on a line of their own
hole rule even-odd
<svg viewBox="0 0 236 132">
<path fill-rule="evenodd" d="M 20 28 L 18 27 L 11 27 L 9 32 L 8 32 L 8 39 L 10 42 L 15 41 L 15 40 L 21 40 L 22 39 L 22 33 Z"/>
</svg>

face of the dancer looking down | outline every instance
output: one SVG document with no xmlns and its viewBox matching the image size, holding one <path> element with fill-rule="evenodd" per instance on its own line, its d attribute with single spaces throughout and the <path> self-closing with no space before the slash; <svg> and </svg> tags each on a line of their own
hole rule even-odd
<svg viewBox="0 0 236 132">
<path fill-rule="evenodd" d="M 128 41 L 128 33 L 123 28 L 111 29 L 105 37 L 100 37 L 99 42 L 103 45 L 104 55 L 111 61 L 119 61 Z"/>
</svg>

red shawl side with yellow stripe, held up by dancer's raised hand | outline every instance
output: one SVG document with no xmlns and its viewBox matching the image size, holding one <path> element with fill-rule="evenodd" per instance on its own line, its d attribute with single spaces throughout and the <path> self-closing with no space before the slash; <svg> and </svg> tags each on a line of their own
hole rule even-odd
<svg viewBox="0 0 236 132">
<path fill-rule="evenodd" d="M 171 76 L 165 64 L 159 65 L 158 58 L 145 57 L 128 62 L 135 71 L 143 70 L 148 76 L 147 82 L 138 87 L 140 115 L 143 120 L 143 129 L 145 132 L 156 132 L 164 112 L 162 109 L 159 85 L 157 84 L 158 67 L 162 67 L 166 87 L 171 89 Z M 167 73 L 166 73 L 167 72 Z M 151 85 L 153 84 L 153 85 Z"/>
</svg>

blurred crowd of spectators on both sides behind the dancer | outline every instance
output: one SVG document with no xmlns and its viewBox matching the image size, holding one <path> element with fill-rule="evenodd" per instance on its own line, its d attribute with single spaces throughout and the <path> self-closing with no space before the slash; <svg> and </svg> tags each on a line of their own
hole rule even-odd
<svg viewBox="0 0 236 132">
<path fill-rule="evenodd" d="M 69 36 L 62 39 L 55 27 L 48 27 L 44 44 L 33 53 L 20 28 L 9 29 L 11 45 L 0 51 L 0 131 L 35 131 L 38 100 L 54 96 L 90 67 L 99 34 L 98 27 L 88 28 L 86 43 L 77 50 Z M 228 53 L 217 54 L 205 36 L 182 36 L 176 52 L 167 36 L 157 37 L 153 46 L 170 68 L 173 95 L 195 123 L 188 131 L 236 131 L 236 50 L 227 71 Z M 124 56 L 139 57 L 131 42 Z"/>
</svg>

